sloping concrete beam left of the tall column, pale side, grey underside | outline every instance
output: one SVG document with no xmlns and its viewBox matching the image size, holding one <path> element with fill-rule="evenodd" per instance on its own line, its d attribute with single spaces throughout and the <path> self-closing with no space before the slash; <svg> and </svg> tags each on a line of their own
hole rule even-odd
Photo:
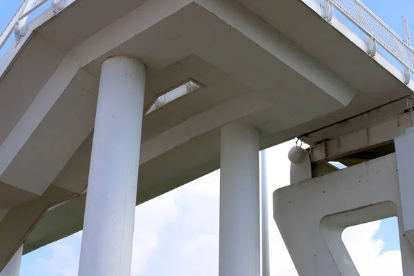
<svg viewBox="0 0 414 276">
<path fill-rule="evenodd" d="M 88 136 L 97 99 L 70 84 L 78 69 L 64 59 L 1 144 L 1 181 L 42 195 Z"/>
</svg>

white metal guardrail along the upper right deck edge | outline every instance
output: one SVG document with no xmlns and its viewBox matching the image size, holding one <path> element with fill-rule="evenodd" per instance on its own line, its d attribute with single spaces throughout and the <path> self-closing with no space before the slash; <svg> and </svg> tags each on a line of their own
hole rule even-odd
<svg viewBox="0 0 414 276">
<path fill-rule="evenodd" d="M 404 81 L 409 82 L 410 72 L 414 72 L 414 48 L 408 45 L 402 37 L 391 30 L 386 23 L 377 17 L 359 0 L 324 0 L 322 16 L 332 20 L 333 8 L 344 14 L 368 36 L 367 52 L 374 56 L 376 43 L 389 52 L 404 66 Z"/>
</svg>

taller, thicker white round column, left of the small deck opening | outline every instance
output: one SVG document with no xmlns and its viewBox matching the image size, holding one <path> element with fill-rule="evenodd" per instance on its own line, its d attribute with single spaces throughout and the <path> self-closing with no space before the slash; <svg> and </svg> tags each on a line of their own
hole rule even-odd
<svg viewBox="0 0 414 276">
<path fill-rule="evenodd" d="M 146 68 L 130 57 L 103 62 L 79 276 L 129 276 Z"/>
</svg>

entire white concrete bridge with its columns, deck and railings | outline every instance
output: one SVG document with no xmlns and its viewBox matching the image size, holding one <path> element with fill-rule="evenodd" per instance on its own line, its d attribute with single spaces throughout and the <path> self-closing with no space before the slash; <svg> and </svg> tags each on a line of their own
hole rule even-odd
<svg viewBox="0 0 414 276">
<path fill-rule="evenodd" d="M 219 275 L 259 275 L 259 150 L 293 137 L 311 147 L 273 197 L 299 275 L 358 275 L 342 230 L 393 215 L 413 275 L 408 36 L 358 0 L 53 0 L 27 19 L 48 4 L 0 35 L 1 276 L 82 228 L 79 275 L 129 275 L 135 205 L 217 168 Z"/>
</svg>

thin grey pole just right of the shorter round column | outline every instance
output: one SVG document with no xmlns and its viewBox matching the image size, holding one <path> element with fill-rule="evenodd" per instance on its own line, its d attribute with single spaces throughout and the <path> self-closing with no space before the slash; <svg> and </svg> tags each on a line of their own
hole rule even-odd
<svg viewBox="0 0 414 276">
<path fill-rule="evenodd" d="M 260 153 L 262 179 L 262 276 L 270 276 L 269 260 L 269 205 L 266 150 Z"/>
</svg>

